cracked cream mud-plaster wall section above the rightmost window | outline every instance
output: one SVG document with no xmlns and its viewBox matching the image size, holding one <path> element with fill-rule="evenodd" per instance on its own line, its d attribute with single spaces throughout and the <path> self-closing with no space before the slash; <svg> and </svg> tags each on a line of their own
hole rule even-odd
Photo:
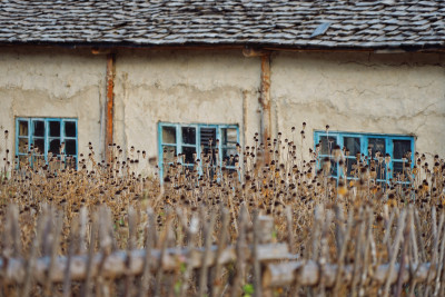
<svg viewBox="0 0 445 297">
<path fill-rule="evenodd" d="M 445 156 L 444 55 L 278 53 L 271 61 L 276 130 L 414 135 L 416 150 Z"/>
</svg>

